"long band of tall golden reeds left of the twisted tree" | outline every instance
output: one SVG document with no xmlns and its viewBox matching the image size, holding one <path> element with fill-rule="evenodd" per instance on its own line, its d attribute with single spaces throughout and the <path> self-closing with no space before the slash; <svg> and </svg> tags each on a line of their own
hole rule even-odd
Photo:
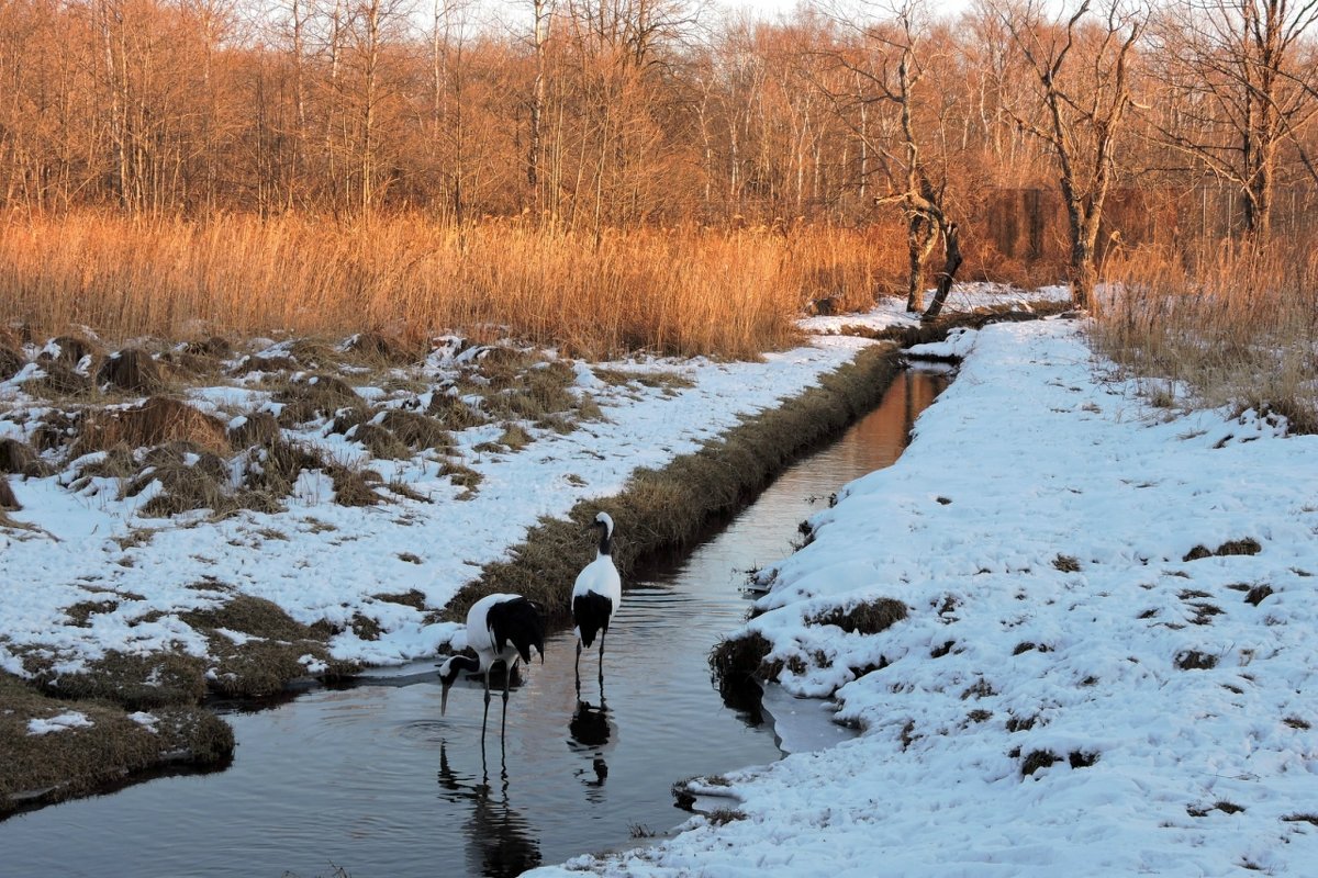
<svg viewBox="0 0 1318 878">
<path fill-rule="evenodd" d="M 444 329 L 502 325 L 600 358 L 757 357 L 815 300 L 863 307 L 891 286 L 884 229 L 639 229 L 593 236 L 419 215 L 206 222 L 80 213 L 0 221 L 0 320 L 104 337 L 345 336 L 402 362 Z"/>
</svg>

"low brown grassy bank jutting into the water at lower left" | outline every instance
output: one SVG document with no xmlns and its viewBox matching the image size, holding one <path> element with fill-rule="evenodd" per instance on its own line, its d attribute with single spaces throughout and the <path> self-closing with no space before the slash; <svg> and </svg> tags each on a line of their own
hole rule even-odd
<svg viewBox="0 0 1318 878">
<path fill-rule="evenodd" d="M 101 702 L 47 698 L 0 674 L 0 815 L 87 795 L 130 782 L 148 770 L 223 765 L 233 753 L 233 732 L 210 711 L 165 707 L 153 729 Z M 82 713 L 92 725 L 29 735 L 30 720 Z"/>
</svg>

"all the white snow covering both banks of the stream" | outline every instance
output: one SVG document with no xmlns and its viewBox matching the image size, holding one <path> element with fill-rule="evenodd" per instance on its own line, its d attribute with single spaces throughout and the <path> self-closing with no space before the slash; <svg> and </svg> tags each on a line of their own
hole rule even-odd
<svg viewBox="0 0 1318 878">
<path fill-rule="evenodd" d="M 424 459 L 386 478 L 431 503 L 337 507 L 311 474 L 287 512 L 219 523 L 140 519 L 140 498 L 95 480 L 16 482 L 25 508 L 12 517 L 36 529 L 0 536 L 0 667 L 21 670 L 24 649 L 47 650 L 57 671 L 107 649 L 204 654 L 178 616 L 235 591 L 306 623 L 381 624 L 378 641 L 339 636 L 340 658 L 460 645 L 460 625 L 372 595 L 418 588 L 442 606 L 540 516 L 618 491 L 870 344 L 826 333 L 908 320 L 895 305 L 815 317 L 812 344 L 762 363 L 609 365 L 693 382 L 667 392 L 573 363 L 608 420 L 536 432 L 517 454 L 477 453 L 489 428 L 463 432 L 463 462 L 484 477 L 471 499 Z M 1318 437 L 1255 412 L 1156 407 L 1085 328 L 999 324 L 937 346 L 965 359 L 907 453 L 840 491 L 811 520 L 813 541 L 760 573 L 747 629 L 796 669 L 767 696 L 791 756 L 696 785 L 743 819 L 696 816 L 652 846 L 531 874 L 1313 874 Z M 427 369 L 472 355 L 459 348 Z M 194 399 L 235 395 L 262 399 L 254 384 Z M 12 382 L 5 398 L 24 403 Z M 0 419 L 0 434 L 25 430 Z M 360 455 L 320 440 L 337 459 Z M 161 529 L 116 542 L 141 525 Z M 1244 541 L 1257 553 L 1197 557 Z M 63 612 L 107 598 L 117 606 L 83 627 Z M 807 621 L 880 598 L 908 615 L 875 636 Z M 80 715 L 33 723 L 63 717 Z"/>
</svg>

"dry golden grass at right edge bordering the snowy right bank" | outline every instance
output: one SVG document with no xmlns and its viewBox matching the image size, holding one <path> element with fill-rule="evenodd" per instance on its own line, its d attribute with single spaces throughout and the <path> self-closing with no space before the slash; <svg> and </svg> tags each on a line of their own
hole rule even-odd
<svg viewBox="0 0 1318 878">
<path fill-rule="evenodd" d="M 1226 244 L 1198 259 L 1137 251 L 1111 261 L 1122 291 L 1099 348 L 1137 374 L 1184 382 L 1195 404 L 1284 415 L 1318 432 L 1318 253 Z M 1162 400 L 1165 403 L 1165 400 Z"/>
</svg>

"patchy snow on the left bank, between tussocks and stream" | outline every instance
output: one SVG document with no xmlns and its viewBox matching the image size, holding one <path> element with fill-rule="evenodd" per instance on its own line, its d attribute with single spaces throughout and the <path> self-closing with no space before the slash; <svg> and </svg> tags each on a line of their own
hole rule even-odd
<svg viewBox="0 0 1318 878">
<path fill-rule="evenodd" d="M 423 367 L 435 382 L 451 376 L 455 363 L 486 350 L 463 348 L 459 338 L 447 341 Z M 360 444 L 315 425 L 295 438 L 319 445 L 332 461 L 372 466 L 386 482 L 401 482 L 426 500 L 341 507 L 333 503 L 328 474 L 303 470 L 282 513 L 248 512 L 221 521 L 207 520 L 204 512 L 156 519 L 137 509 L 158 483 L 120 499 L 115 478 L 94 478 L 70 490 L 72 467 L 49 478 L 11 477 L 24 505 L 11 517 L 30 529 L 0 530 L 0 667 L 21 674 L 20 656 L 26 650 L 51 658 L 59 673 L 76 671 L 109 650 L 182 648 L 206 656 L 206 638 L 179 615 L 225 603 L 235 594 L 273 600 L 304 624 L 324 619 L 345 628 L 331 641 L 340 659 L 397 665 L 434 656 L 461 627 L 427 623 L 422 611 L 373 595 L 415 588 L 427 606 L 442 607 L 484 565 L 505 558 L 542 516 L 563 516 L 581 499 L 617 494 L 638 467 L 662 467 L 699 449 L 743 416 L 800 394 L 870 344 L 815 338 L 758 363 L 645 358 L 598 365 L 676 373 L 692 382 L 676 388 L 610 386 L 594 376 L 590 365 L 575 362 L 577 386 L 592 394 L 606 420 L 584 423 L 565 436 L 526 424 L 535 441 L 518 453 L 476 450 L 498 438 L 497 424 L 456 433 L 460 462 L 482 477 L 474 494 L 440 475 L 439 459 L 370 461 Z M 272 344 L 256 355 L 286 353 L 287 345 Z M 277 408 L 252 375 L 236 383 L 244 386 L 196 388 L 190 399 L 225 423 L 239 416 L 227 405 Z M 0 382 L 0 436 L 30 438 L 42 411 L 25 396 L 21 382 Z M 145 541 L 125 540 L 140 529 L 154 533 Z M 79 625 L 65 608 L 80 602 L 115 606 Z M 380 624 L 378 640 L 352 632 L 357 613 Z"/>
</svg>

